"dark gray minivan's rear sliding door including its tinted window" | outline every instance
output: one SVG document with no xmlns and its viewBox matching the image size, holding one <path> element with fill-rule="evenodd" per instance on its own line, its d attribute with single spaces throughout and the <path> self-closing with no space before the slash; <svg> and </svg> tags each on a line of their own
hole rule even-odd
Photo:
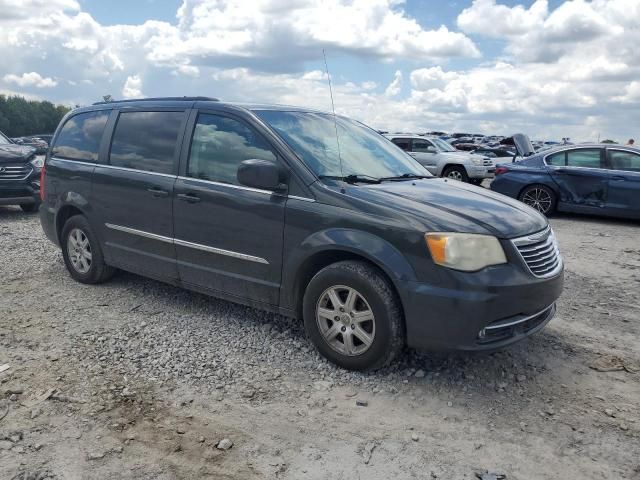
<svg viewBox="0 0 640 480">
<path fill-rule="evenodd" d="M 186 125 L 182 111 L 121 111 L 107 164 L 93 173 L 92 204 L 107 262 L 178 279 L 172 202 Z"/>
</svg>

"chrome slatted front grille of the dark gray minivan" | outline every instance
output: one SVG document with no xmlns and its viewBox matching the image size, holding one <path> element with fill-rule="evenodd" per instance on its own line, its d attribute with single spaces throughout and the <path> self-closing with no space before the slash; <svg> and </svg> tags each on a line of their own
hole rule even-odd
<svg viewBox="0 0 640 480">
<path fill-rule="evenodd" d="M 562 269 L 562 257 L 551 227 L 512 242 L 529 271 L 536 277 L 551 277 Z"/>
</svg>

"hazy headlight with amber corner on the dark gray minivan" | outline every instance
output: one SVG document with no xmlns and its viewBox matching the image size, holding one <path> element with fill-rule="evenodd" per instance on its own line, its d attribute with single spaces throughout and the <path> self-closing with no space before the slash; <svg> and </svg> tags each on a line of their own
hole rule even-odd
<svg viewBox="0 0 640 480">
<path fill-rule="evenodd" d="M 427 233 L 424 238 L 433 261 L 444 267 L 473 272 L 507 263 L 502 245 L 491 235 Z"/>
</svg>

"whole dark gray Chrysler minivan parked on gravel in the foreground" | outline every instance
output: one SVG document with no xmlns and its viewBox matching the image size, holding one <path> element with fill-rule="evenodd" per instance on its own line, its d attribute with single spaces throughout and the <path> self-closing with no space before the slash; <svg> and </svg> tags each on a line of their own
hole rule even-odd
<svg viewBox="0 0 640 480">
<path fill-rule="evenodd" d="M 349 369 L 405 344 L 503 347 L 542 329 L 562 291 L 544 216 L 310 109 L 203 97 L 79 108 L 55 133 L 41 195 L 76 280 L 123 269 L 301 318 Z"/>
</svg>

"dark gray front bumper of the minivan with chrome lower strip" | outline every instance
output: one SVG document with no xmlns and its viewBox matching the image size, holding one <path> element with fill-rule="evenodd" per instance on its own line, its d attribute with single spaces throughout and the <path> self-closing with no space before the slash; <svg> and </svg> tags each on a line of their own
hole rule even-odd
<svg viewBox="0 0 640 480">
<path fill-rule="evenodd" d="M 553 318 L 564 283 L 562 271 L 540 279 L 509 265 L 455 276 L 455 288 L 404 284 L 410 347 L 481 351 L 518 342 Z"/>
</svg>

